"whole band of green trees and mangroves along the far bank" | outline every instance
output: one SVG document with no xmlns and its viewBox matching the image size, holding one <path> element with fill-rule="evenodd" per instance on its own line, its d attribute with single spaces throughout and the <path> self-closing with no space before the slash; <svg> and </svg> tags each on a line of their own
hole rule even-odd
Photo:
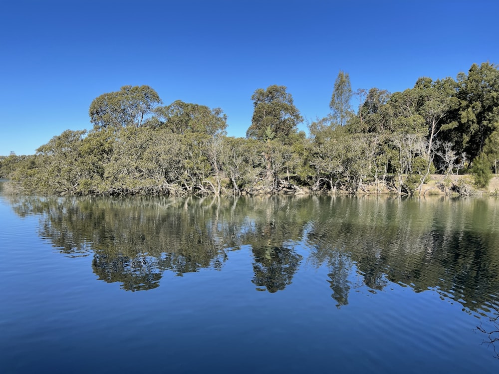
<svg viewBox="0 0 499 374">
<path fill-rule="evenodd" d="M 489 62 L 395 93 L 354 91 L 340 71 L 330 113 L 307 123 L 308 136 L 285 86 L 258 88 L 251 100 L 246 138 L 235 138 L 221 108 L 163 105 L 149 86 L 124 86 L 92 101 L 92 130 L 66 130 L 35 155 L 0 158 L 0 177 L 29 192 L 181 196 L 412 194 L 432 174 L 472 173 L 485 187 L 497 173 L 499 70 Z"/>
</svg>

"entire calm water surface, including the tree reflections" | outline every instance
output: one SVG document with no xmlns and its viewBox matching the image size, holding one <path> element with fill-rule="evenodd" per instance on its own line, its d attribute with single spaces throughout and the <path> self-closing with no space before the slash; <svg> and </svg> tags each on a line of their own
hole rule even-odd
<svg viewBox="0 0 499 374">
<path fill-rule="evenodd" d="M 476 329 L 498 217 L 495 198 L 0 194 L 0 372 L 498 373 Z"/>
</svg>

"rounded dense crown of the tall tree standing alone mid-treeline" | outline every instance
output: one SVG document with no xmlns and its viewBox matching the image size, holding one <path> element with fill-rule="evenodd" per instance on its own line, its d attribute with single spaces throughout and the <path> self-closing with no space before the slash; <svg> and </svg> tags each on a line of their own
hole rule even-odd
<svg viewBox="0 0 499 374">
<path fill-rule="evenodd" d="M 285 86 L 272 85 L 265 90 L 258 88 L 251 96 L 253 117 L 246 136 L 257 140 L 286 139 L 297 132 L 297 125 L 303 121 L 293 104 L 291 94 Z"/>
</svg>

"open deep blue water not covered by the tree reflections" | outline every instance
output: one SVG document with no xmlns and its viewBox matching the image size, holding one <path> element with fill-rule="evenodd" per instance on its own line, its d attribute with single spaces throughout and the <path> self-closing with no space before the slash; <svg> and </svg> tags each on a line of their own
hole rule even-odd
<svg viewBox="0 0 499 374">
<path fill-rule="evenodd" d="M 329 200 L 319 202 L 331 206 Z M 390 274 L 400 267 L 390 264 L 382 266 L 383 279 L 376 284 L 383 287 L 375 289 L 366 285 L 356 249 L 328 252 L 327 260 L 317 260 L 310 232 L 319 221 L 329 226 L 324 216 L 305 217 L 308 223 L 297 239 L 279 234 L 284 256 L 292 255 L 288 261 L 271 246 L 258 252 L 257 239 L 245 243 L 244 230 L 258 226 L 257 213 L 238 213 L 246 228 L 238 231 L 239 245 L 221 244 L 221 264 L 215 261 L 219 251 L 194 272 L 158 267 L 151 271 L 161 275 L 155 287 L 131 292 L 123 282 L 104 281 L 92 271 L 98 249 L 88 235 L 83 249 L 61 253 L 42 229 L 49 210 L 21 216 L 14 205 L 0 197 L 1 373 L 499 371 L 494 347 L 483 344 L 486 336 L 476 330 L 479 325 L 494 328 L 487 303 L 497 305 L 499 289 L 487 289 L 478 301 L 463 300 L 437 284 L 422 290 L 392 281 Z M 371 210 L 366 213 L 376 217 Z M 218 230 L 224 225 L 222 220 Z M 383 250 L 391 249 L 380 250 L 381 257 Z M 286 284 L 277 282 L 272 289 L 273 280 L 264 279 L 272 271 L 255 275 L 258 264 L 268 265 L 264 256 L 282 260 L 281 273 L 292 267 Z M 143 256 L 151 263 L 160 258 L 153 257 Z M 463 276 L 452 268 L 448 274 Z M 345 290 L 347 297 L 339 295 Z M 470 308 L 473 302 L 480 305 Z"/>
</svg>

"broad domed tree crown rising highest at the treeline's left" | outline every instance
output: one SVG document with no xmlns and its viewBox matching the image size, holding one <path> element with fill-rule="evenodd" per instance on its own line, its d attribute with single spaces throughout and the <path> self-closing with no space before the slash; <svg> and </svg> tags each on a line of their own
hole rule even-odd
<svg viewBox="0 0 499 374">
<path fill-rule="evenodd" d="M 119 91 L 95 98 L 88 114 L 95 128 L 139 127 L 158 104 L 162 101 L 151 87 L 123 86 Z"/>
</svg>

